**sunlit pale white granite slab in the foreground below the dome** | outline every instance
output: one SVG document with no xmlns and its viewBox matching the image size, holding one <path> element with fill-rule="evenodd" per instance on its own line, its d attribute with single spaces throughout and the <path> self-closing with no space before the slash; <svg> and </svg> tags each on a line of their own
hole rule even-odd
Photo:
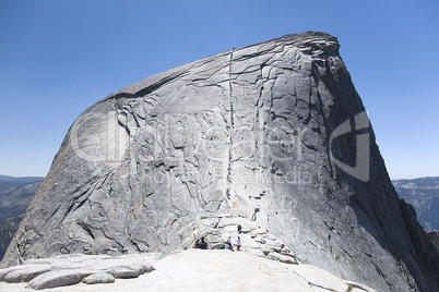
<svg viewBox="0 0 439 292">
<path fill-rule="evenodd" d="M 327 270 L 311 265 L 288 265 L 266 257 L 257 256 L 246 251 L 234 253 L 226 250 L 202 251 L 191 248 L 166 257 L 149 254 L 137 255 L 135 257 L 139 260 L 138 263 L 154 263 L 156 269 L 134 279 L 114 279 L 110 273 L 96 272 L 84 278 L 82 282 L 78 281 L 78 279 L 86 273 L 84 270 L 70 269 L 61 272 L 54 270 L 47 273 L 63 273 L 64 278 L 57 281 L 47 281 L 47 288 L 56 282 L 61 284 L 63 281 L 63 283 L 70 285 L 54 288 L 50 289 L 50 291 L 376 292 L 373 289 L 345 281 Z M 110 258 L 107 257 L 107 259 Z M 130 259 L 130 256 L 115 259 L 115 261 L 123 260 L 126 260 L 126 267 L 132 267 L 132 265 L 130 265 L 132 257 Z M 56 261 L 59 263 L 58 259 Z M 71 261 L 73 266 L 74 261 L 75 259 Z M 87 267 L 99 268 L 103 258 L 99 256 L 91 257 L 86 259 L 86 261 Z M 69 263 L 69 257 L 64 258 L 64 263 Z M 59 268 L 66 267 L 61 265 Z M 73 276 L 74 272 L 76 272 L 76 278 Z M 37 278 L 33 281 L 36 282 L 35 280 Z M 104 283 L 106 281 L 108 283 Z M 41 289 L 37 287 L 33 288 Z M 0 290 L 33 291 L 29 285 L 25 287 L 25 283 L 5 282 L 0 282 Z"/>
</svg>

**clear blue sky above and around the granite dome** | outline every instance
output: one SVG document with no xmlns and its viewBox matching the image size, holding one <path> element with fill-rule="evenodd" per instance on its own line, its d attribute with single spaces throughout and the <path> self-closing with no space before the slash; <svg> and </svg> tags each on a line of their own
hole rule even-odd
<svg viewBox="0 0 439 292">
<path fill-rule="evenodd" d="M 392 179 L 439 175 L 439 1 L 0 0 L 0 174 L 46 175 L 75 118 L 164 70 L 336 37 Z"/>
</svg>

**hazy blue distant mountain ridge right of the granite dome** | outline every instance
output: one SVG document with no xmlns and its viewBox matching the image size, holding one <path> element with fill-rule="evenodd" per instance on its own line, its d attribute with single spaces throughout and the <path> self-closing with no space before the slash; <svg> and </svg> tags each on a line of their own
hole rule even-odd
<svg viewBox="0 0 439 292">
<path fill-rule="evenodd" d="M 392 181 L 398 195 L 411 204 L 427 230 L 439 230 L 439 177 Z"/>
</svg>

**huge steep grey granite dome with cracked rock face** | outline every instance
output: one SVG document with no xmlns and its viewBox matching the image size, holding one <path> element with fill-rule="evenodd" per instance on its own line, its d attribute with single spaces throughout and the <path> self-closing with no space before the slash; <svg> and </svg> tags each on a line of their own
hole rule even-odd
<svg viewBox="0 0 439 292">
<path fill-rule="evenodd" d="M 239 224 L 244 250 L 379 291 L 434 291 L 438 255 L 401 206 L 336 38 L 308 32 L 85 110 L 2 263 L 216 246 Z"/>
</svg>

